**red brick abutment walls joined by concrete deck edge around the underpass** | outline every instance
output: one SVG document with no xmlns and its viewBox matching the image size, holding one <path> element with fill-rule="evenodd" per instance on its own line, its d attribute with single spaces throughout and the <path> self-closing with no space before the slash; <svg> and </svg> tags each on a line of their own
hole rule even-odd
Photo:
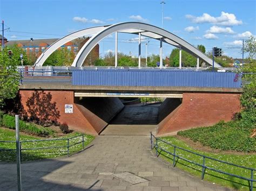
<svg viewBox="0 0 256 191">
<path fill-rule="evenodd" d="M 76 97 L 90 93 L 95 97 Z M 123 108 L 118 97 L 106 93 L 168 95 L 159 107 L 158 135 L 230 121 L 240 111 L 241 89 L 196 87 L 88 87 L 60 84 L 23 84 L 19 87 L 20 114 L 67 123 L 98 135 Z M 170 97 L 174 95 L 174 97 Z M 181 95 L 181 97 L 177 97 Z"/>
</svg>

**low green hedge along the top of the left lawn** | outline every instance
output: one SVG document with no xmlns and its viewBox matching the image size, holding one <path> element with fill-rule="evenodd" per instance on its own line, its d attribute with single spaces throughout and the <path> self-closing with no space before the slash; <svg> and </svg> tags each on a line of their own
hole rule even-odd
<svg viewBox="0 0 256 191">
<path fill-rule="evenodd" d="M 3 115 L 2 125 L 5 128 L 15 129 L 15 117 L 10 115 Z M 35 124 L 26 123 L 21 120 L 19 120 L 19 130 L 41 137 L 47 137 L 49 135 L 53 135 L 54 133 L 54 131 L 49 128 L 38 128 Z"/>
</svg>

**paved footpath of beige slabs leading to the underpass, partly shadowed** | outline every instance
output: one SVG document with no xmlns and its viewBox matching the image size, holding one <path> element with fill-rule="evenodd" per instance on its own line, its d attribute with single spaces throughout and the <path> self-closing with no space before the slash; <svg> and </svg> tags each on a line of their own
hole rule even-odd
<svg viewBox="0 0 256 191">
<path fill-rule="evenodd" d="M 131 185 L 113 173 L 149 180 Z M 0 163 L 0 190 L 17 190 L 16 164 Z M 69 158 L 22 164 L 23 190 L 228 190 L 172 168 L 154 157 L 149 136 L 99 136 Z"/>
</svg>

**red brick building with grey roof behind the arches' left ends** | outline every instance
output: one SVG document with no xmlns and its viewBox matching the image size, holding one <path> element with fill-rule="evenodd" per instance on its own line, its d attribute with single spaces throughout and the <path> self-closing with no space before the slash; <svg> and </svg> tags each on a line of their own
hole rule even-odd
<svg viewBox="0 0 256 191">
<path fill-rule="evenodd" d="M 2 39 L 2 36 L 0 36 Z M 6 39 L 6 38 L 5 38 Z M 30 40 L 5 40 L 5 46 L 10 45 L 18 45 L 18 47 L 24 48 L 24 51 L 28 56 L 31 57 L 34 56 L 35 59 L 37 59 L 44 50 L 49 47 L 52 43 L 54 43 L 58 39 L 30 39 Z M 66 48 L 69 51 L 75 53 L 77 55 L 79 49 L 86 43 L 86 41 L 89 40 L 89 37 L 87 38 L 78 38 L 72 41 L 69 41 L 68 43 L 64 44 L 60 48 Z M 2 44 L 2 40 L 1 40 Z M 84 61 L 84 65 L 93 65 L 93 62 L 99 58 L 99 45 L 96 45 L 92 51 L 89 53 L 87 58 Z"/>
</svg>

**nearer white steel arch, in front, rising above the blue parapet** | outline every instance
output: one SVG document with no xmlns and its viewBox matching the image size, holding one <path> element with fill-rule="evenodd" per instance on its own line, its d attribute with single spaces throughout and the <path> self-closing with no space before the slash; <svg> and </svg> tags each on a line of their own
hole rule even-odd
<svg viewBox="0 0 256 191">
<path fill-rule="evenodd" d="M 129 31 L 130 30 L 130 31 Z M 175 34 L 168 32 L 164 29 L 160 29 L 157 26 L 145 24 L 145 23 L 138 23 L 138 22 L 125 22 L 125 23 L 118 23 L 114 25 L 110 25 L 105 27 L 105 29 L 99 31 L 97 34 L 92 36 L 90 40 L 88 40 L 84 46 L 78 52 L 75 60 L 72 63 L 72 66 L 80 67 L 83 65 L 83 62 L 86 56 L 90 53 L 93 47 L 95 47 L 100 40 L 104 39 L 105 37 L 109 36 L 114 32 L 127 32 L 127 33 L 139 33 L 143 36 L 151 37 L 160 40 L 163 38 L 164 41 L 168 44 L 171 44 L 176 47 L 181 47 L 185 51 L 198 56 L 200 59 L 207 62 L 209 65 L 212 65 L 212 59 L 206 56 L 203 52 L 199 51 L 196 47 L 192 46 L 191 44 L 187 43 L 185 40 L 179 38 Z M 214 62 L 215 67 L 221 67 L 217 62 Z"/>
</svg>

